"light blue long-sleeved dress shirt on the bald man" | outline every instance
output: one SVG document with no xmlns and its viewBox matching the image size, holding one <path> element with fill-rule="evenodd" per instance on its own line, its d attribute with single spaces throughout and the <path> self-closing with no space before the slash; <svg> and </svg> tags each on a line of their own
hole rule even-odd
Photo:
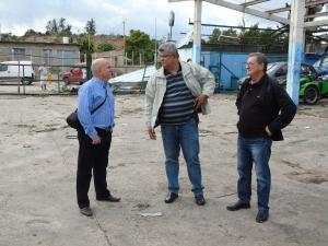
<svg viewBox="0 0 328 246">
<path fill-rule="evenodd" d="M 107 93 L 107 98 L 106 94 Z M 91 112 L 106 102 L 91 115 Z M 78 117 L 90 138 L 97 136 L 97 128 L 113 128 L 115 115 L 115 102 L 113 91 L 107 82 L 93 77 L 79 89 Z"/>
</svg>

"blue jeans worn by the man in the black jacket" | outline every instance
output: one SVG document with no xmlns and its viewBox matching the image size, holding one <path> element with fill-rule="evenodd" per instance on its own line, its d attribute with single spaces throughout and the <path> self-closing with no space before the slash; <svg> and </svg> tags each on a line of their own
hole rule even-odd
<svg viewBox="0 0 328 246">
<path fill-rule="evenodd" d="M 243 203 L 248 203 L 251 196 L 251 168 L 255 163 L 257 175 L 258 209 L 269 209 L 271 187 L 271 173 L 269 160 L 272 140 L 266 138 L 249 139 L 238 137 L 238 198 Z"/>
</svg>

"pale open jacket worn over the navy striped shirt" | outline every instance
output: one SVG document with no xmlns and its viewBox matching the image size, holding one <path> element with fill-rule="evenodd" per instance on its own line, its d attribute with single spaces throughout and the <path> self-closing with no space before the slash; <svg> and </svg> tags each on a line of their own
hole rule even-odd
<svg viewBox="0 0 328 246">
<path fill-rule="evenodd" d="M 195 97 L 201 94 L 208 96 L 213 94 L 215 81 L 208 69 L 191 62 L 179 62 L 186 85 Z M 155 127 L 165 91 L 166 78 L 162 67 L 149 79 L 145 87 L 145 125 L 149 128 Z M 208 102 L 201 106 L 201 112 L 203 115 L 210 113 Z"/>
</svg>

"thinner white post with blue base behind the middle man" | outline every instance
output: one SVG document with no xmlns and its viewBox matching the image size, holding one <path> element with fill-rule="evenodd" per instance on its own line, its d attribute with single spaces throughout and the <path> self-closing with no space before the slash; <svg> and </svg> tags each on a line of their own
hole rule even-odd
<svg viewBox="0 0 328 246">
<path fill-rule="evenodd" d="M 201 3 L 202 0 L 195 0 L 192 60 L 196 63 L 200 63 L 201 56 Z"/>
</svg>

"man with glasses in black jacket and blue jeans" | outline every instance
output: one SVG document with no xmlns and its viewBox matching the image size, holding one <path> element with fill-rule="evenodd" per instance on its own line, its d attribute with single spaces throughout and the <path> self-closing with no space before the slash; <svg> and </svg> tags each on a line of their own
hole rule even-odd
<svg viewBox="0 0 328 246">
<path fill-rule="evenodd" d="M 249 75 L 237 96 L 238 109 L 238 201 L 226 207 L 229 211 L 250 208 L 251 168 L 257 175 L 258 213 L 261 223 L 269 218 L 271 174 L 269 160 L 273 141 L 283 140 L 281 129 L 296 114 L 296 106 L 288 93 L 266 74 L 267 58 L 263 54 L 250 54 L 246 70 Z"/>
</svg>

